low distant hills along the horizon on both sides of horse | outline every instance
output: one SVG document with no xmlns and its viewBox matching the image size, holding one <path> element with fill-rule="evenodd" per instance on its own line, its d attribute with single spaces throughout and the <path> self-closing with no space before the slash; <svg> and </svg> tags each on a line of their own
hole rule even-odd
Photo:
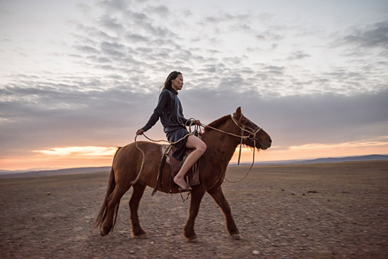
<svg viewBox="0 0 388 259">
<path fill-rule="evenodd" d="M 295 165 L 295 164 L 307 164 L 307 163 L 339 163 L 348 161 L 387 161 L 386 155 L 369 155 L 369 156 L 346 156 L 343 158 L 317 158 L 312 160 L 288 160 L 288 161 L 271 161 L 271 162 L 259 162 L 255 163 L 255 166 L 270 166 L 270 165 Z M 250 166 L 251 163 L 240 163 L 240 166 Z M 229 166 L 237 166 L 235 163 L 230 163 Z M 109 172 L 111 166 L 102 167 L 83 167 L 83 168 L 68 168 L 58 170 L 46 170 L 46 171 L 0 171 L 0 178 L 9 177 L 29 177 L 29 176 L 58 176 L 58 175 L 70 175 L 78 173 L 98 173 Z"/>
</svg>

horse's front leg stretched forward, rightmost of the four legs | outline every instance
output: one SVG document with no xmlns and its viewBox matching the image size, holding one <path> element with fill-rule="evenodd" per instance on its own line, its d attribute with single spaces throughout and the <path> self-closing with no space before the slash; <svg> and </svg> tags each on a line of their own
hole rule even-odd
<svg viewBox="0 0 388 259">
<path fill-rule="evenodd" d="M 228 200 L 226 200 L 223 189 L 221 186 L 213 188 L 208 191 L 208 193 L 213 197 L 215 202 L 220 206 L 221 210 L 225 215 L 226 226 L 228 231 L 233 239 L 241 239 L 240 231 L 238 230 L 235 220 L 233 219 L 233 215 L 230 211 L 230 205 Z"/>
</svg>

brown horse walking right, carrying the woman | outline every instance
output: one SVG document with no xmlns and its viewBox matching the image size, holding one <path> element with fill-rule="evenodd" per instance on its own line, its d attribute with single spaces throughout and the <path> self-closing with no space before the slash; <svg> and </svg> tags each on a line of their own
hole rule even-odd
<svg viewBox="0 0 388 259">
<path fill-rule="evenodd" d="M 235 136 L 210 127 L 232 133 Z M 245 138 L 238 137 L 242 134 Z M 223 116 L 205 127 L 202 140 L 208 148 L 200 158 L 200 185 L 193 186 L 193 190 L 190 191 L 189 217 L 183 228 L 186 240 L 198 240 L 194 232 L 194 221 L 205 192 L 208 192 L 220 206 L 221 210 L 223 210 L 230 235 L 234 239 L 241 239 L 240 231 L 235 224 L 229 203 L 225 199 L 223 189 L 221 188 L 228 163 L 241 139 L 243 139 L 242 143 L 246 146 L 263 150 L 269 148 L 272 142 L 270 136 L 265 131 L 259 130 L 255 123 L 252 123 L 252 121 L 242 115 L 240 107 L 233 113 L 233 117 L 230 115 Z M 147 233 L 141 228 L 138 220 L 138 206 L 146 186 L 155 188 L 157 184 L 156 180 L 161 155 L 160 145 L 157 143 L 139 141 L 138 146 L 144 151 L 146 156 L 141 176 L 133 185 L 131 181 L 138 175 L 143 161 L 141 151 L 136 148 L 136 144 L 131 143 L 123 148 L 118 148 L 113 158 L 111 175 L 108 180 L 108 190 L 96 219 L 96 226 L 101 228 L 101 235 L 107 235 L 113 230 L 121 197 L 133 186 L 133 193 L 129 202 L 132 233 L 136 238 L 147 238 Z M 168 166 L 163 168 L 163 178 L 158 186 L 158 191 L 163 191 L 164 193 L 170 191 L 170 168 Z M 178 186 L 172 186 L 172 192 L 178 193 Z"/>
</svg>

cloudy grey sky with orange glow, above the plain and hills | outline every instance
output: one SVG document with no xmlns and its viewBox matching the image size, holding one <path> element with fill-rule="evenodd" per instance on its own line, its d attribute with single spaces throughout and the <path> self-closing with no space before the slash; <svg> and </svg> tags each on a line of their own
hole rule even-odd
<svg viewBox="0 0 388 259">
<path fill-rule="evenodd" d="M 1 170 L 110 166 L 175 70 L 186 118 L 270 134 L 256 162 L 388 154 L 388 1 L 0 0 L 0 24 Z"/>
</svg>

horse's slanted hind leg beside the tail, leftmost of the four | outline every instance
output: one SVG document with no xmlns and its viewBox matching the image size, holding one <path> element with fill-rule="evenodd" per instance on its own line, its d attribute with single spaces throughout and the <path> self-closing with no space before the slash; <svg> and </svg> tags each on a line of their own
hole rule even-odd
<svg viewBox="0 0 388 259">
<path fill-rule="evenodd" d="M 126 193 L 129 188 L 131 188 L 130 184 L 117 184 L 111 195 L 109 195 L 106 220 L 101 225 L 102 228 L 100 233 L 102 236 L 108 235 L 116 224 L 116 217 L 121 197 L 123 197 L 124 193 Z"/>
</svg>

